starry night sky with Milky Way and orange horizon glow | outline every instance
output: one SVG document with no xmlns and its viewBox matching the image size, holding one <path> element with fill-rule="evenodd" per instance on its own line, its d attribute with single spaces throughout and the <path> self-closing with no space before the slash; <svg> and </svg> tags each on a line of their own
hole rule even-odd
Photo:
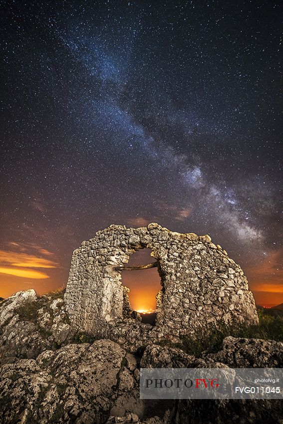
<svg viewBox="0 0 283 424">
<path fill-rule="evenodd" d="M 0 4 L 0 296 L 65 286 L 82 240 L 153 221 L 210 234 L 282 303 L 280 2 Z M 153 271 L 128 286 L 156 293 Z"/>
</svg>

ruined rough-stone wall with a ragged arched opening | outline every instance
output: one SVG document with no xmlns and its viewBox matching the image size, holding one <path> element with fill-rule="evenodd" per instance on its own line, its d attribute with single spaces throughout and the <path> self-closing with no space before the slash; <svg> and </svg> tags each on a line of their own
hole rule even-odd
<svg viewBox="0 0 283 424">
<path fill-rule="evenodd" d="M 150 248 L 162 289 L 155 326 L 130 307 L 121 273 L 132 253 Z M 196 335 L 226 324 L 257 324 L 255 300 L 241 267 L 209 235 L 172 232 L 157 223 L 110 225 L 73 252 L 64 294 L 71 324 L 94 335 L 131 331 L 146 337 Z M 123 327 L 123 323 L 124 325 Z M 124 328 L 124 330 L 123 330 Z"/>
</svg>

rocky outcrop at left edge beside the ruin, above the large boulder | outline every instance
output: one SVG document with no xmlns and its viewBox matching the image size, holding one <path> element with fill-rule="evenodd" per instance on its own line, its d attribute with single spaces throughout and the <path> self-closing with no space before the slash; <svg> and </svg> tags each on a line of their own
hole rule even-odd
<svg viewBox="0 0 283 424">
<path fill-rule="evenodd" d="M 0 363 L 36 358 L 74 337 L 62 298 L 20 291 L 0 303 Z"/>
</svg>

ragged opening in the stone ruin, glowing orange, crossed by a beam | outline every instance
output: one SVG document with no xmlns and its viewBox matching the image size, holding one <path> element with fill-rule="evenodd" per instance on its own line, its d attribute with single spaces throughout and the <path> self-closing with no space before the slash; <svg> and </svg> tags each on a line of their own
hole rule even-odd
<svg viewBox="0 0 283 424">
<path fill-rule="evenodd" d="M 130 255 L 125 267 L 135 267 L 156 262 L 150 256 L 151 249 L 141 248 Z M 124 270 L 121 278 L 122 285 L 127 292 L 130 307 L 141 316 L 142 322 L 155 325 L 156 321 L 156 295 L 162 289 L 158 268 L 138 270 Z M 129 291 L 127 290 L 129 289 Z M 124 297 L 124 303 L 127 300 Z"/>
</svg>

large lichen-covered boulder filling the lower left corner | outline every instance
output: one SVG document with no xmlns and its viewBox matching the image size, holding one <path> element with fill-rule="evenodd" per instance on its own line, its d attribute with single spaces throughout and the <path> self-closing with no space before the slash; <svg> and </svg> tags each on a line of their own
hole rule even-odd
<svg viewBox="0 0 283 424">
<path fill-rule="evenodd" d="M 6 363 L 0 368 L 0 423 L 104 423 L 121 398 L 124 411 L 140 415 L 134 363 L 110 340 L 70 344 L 35 360 Z"/>
</svg>

